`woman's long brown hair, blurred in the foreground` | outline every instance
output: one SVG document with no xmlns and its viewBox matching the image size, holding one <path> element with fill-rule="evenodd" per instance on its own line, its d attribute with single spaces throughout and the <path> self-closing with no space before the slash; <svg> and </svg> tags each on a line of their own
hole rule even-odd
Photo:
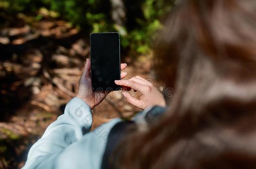
<svg viewBox="0 0 256 169">
<path fill-rule="evenodd" d="M 115 167 L 256 168 L 255 0 L 183 0 L 156 46 L 177 97 L 157 125 L 128 134 Z"/>
</svg>

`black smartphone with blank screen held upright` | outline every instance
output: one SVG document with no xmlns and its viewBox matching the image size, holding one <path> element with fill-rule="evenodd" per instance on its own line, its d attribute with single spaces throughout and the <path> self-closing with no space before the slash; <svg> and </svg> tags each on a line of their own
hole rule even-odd
<svg viewBox="0 0 256 169">
<path fill-rule="evenodd" d="M 91 33 L 91 83 L 94 91 L 117 91 L 120 73 L 119 33 Z"/>
</svg>

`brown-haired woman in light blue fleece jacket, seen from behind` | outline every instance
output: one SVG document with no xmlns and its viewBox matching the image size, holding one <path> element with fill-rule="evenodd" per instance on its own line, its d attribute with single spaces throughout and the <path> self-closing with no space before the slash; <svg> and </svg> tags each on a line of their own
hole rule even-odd
<svg viewBox="0 0 256 169">
<path fill-rule="evenodd" d="M 145 79 L 115 81 L 142 94 L 123 91 L 144 111 L 89 132 L 91 109 L 106 95 L 78 93 L 24 168 L 256 168 L 255 18 L 255 0 L 181 1 L 155 52 L 159 78 L 177 93 L 167 108 Z M 89 70 L 86 60 L 80 88 L 90 89 Z"/>
</svg>

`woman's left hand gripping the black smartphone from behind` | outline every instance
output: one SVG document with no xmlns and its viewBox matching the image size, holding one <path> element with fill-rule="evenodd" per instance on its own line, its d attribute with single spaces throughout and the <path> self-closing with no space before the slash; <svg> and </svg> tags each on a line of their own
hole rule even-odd
<svg viewBox="0 0 256 169">
<path fill-rule="evenodd" d="M 121 67 L 121 70 L 124 70 L 127 67 L 127 64 L 122 63 L 120 67 Z M 91 61 L 90 59 L 86 59 L 84 71 L 79 79 L 78 93 L 76 97 L 86 102 L 91 107 L 91 109 L 93 109 L 95 106 L 97 106 L 99 103 L 101 103 L 104 100 L 104 98 L 107 96 L 108 93 L 106 93 L 105 91 L 101 91 L 101 92 L 92 91 L 90 71 L 91 71 Z M 125 78 L 126 75 L 127 75 L 126 72 L 122 72 L 121 78 Z"/>
</svg>

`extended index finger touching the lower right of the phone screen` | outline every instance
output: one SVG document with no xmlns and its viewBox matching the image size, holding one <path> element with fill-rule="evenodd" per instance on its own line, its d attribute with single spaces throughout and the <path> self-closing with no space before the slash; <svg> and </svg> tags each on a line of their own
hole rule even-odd
<svg viewBox="0 0 256 169">
<path fill-rule="evenodd" d="M 120 86 L 130 87 L 133 90 L 141 92 L 142 94 L 145 93 L 145 90 L 147 87 L 141 83 L 138 83 L 138 82 L 132 81 L 132 80 L 116 80 L 115 84 L 120 85 Z"/>
</svg>

